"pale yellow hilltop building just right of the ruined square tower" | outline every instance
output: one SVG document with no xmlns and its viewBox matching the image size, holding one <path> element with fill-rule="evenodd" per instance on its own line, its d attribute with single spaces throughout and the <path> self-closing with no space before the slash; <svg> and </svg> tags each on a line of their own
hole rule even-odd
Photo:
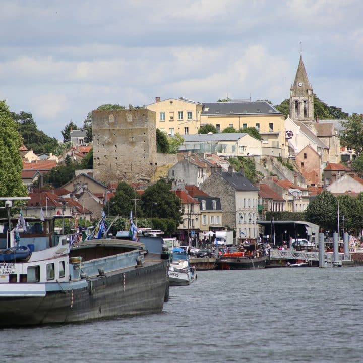
<svg viewBox="0 0 363 363">
<path fill-rule="evenodd" d="M 156 114 L 156 128 L 168 135 L 197 134 L 203 105 L 186 98 L 168 98 L 146 106 Z"/>
</svg>

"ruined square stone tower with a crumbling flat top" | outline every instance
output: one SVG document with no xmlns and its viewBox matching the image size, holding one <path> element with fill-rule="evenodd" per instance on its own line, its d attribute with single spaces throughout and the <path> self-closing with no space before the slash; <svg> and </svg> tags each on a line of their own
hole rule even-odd
<svg viewBox="0 0 363 363">
<path fill-rule="evenodd" d="M 148 183 L 156 165 L 155 112 L 92 111 L 93 175 L 104 184 Z"/>
</svg>

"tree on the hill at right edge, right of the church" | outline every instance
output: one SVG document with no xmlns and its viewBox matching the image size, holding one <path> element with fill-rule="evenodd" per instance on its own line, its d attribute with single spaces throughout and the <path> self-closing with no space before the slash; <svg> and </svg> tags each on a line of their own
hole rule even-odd
<svg viewBox="0 0 363 363">
<path fill-rule="evenodd" d="M 347 120 L 341 120 L 344 130 L 340 132 L 340 144 L 351 147 L 356 155 L 363 150 L 363 114 L 353 113 Z"/>
</svg>

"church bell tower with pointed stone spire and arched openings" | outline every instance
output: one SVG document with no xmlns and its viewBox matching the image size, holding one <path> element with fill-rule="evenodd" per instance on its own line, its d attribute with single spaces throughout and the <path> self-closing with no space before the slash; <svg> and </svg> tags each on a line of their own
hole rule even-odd
<svg viewBox="0 0 363 363">
<path fill-rule="evenodd" d="M 309 83 L 302 55 L 290 89 L 290 118 L 301 121 L 308 127 L 315 123 L 313 87 Z"/>
</svg>

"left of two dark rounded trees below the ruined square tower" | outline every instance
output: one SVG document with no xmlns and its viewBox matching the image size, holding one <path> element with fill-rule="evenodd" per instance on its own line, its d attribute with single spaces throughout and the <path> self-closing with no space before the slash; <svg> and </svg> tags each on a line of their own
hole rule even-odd
<svg viewBox="0 0 363 363">
<path fill-rule="evenodd" d="M 115 195 L 106 203 L 104 210 L 110 211 L 110 215 L 120 217 L 130 216 L 130 211 L 133 212 L 135 217 L 135 190 L 131 188 L 125 181 L 120 181 L 117 185 Z M 136 194 L 136 199 L 139 196 Z M 136 215 L 141 217 L 143 215 L 140 207 L 140 201 L 136 201 Z"/>
</svg>

